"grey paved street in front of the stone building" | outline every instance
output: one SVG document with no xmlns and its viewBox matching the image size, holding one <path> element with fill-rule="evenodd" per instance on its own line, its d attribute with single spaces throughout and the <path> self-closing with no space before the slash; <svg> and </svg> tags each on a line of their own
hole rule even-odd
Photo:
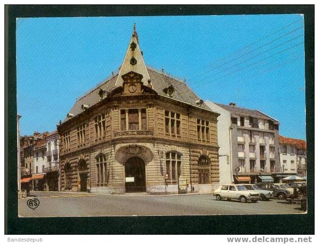
<svg viewBox="0 0 319 244">
<path fill-rule="evenodd" d="M 21 217 L 303 213 L 299 205 L 284 200 L 242 204 L 216 201 L 212 194 L 154 196 L 31 191 L 31 195 L 19 199 Z M 40 201 L 34 210 L 27 206 L 27 200 L 33 198 Z"/>
</svg>

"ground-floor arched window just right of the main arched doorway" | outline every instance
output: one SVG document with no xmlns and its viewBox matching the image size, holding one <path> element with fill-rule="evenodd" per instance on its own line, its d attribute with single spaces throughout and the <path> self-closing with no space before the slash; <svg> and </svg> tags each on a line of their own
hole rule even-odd
<svg viewBox="0 0 319 244">
<path fill-rule="evenodd" d="M 177 183 L 181 175 L 181 153 L 169 151 L 166 153 L 166 173 L 168 182 Z"/>
</svg>

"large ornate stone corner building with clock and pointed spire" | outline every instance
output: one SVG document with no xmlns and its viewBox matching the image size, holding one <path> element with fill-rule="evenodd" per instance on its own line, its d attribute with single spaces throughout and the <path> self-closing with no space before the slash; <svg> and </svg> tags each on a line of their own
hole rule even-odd
<svg viewBox="0 0 319 244">
<path fill-rule="evenodd" d="M 146 67 L 133 30 L 119 73 L 80 97 L 58 126 L 62 190 L 212 191 L 217 117 L 185 84 Z"/>
</svg>

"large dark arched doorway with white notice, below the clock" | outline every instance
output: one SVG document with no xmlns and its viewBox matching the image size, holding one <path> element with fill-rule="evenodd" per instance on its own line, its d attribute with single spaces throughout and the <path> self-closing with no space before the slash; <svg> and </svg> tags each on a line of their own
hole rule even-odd
<svg viewBox="0 0 319 244">
<path fill-rule="evenodd" d="M 131 157 L 125 163 L 125 192 L 145 191 L 145 163 L 140 157 Z"/>
</svg>

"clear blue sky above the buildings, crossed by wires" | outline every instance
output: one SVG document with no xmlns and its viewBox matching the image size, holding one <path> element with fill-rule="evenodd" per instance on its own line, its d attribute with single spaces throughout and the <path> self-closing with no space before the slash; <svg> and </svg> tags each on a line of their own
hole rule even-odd
<svg viewBox="0 0 319 244">
<path fill-rule="evenodd" d="M 305 139 L 301 15 L 17 19 L 20 134 L 54 131 L 76 97 L 124 58 L 133 23 L 146 65 L 186 79 L 203 99 L 258 109 Z"/>
</svg>

